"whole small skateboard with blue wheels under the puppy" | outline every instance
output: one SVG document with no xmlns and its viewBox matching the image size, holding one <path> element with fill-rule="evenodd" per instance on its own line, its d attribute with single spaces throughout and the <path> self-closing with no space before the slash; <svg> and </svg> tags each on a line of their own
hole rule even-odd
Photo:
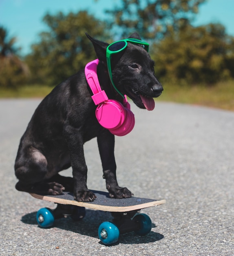
<svg viewBox="0 0 234 256">
<path fill-rule="evenodd" d="M 77 202 L 73 193 L 63 192 L 61 195 L 38 195 L 31 193 L 34 198 L 57 203 L 57 208 L 51 210 L 42 208 L 37 212 L 39 227 L 49 228 L 53 226 L 55 219 L 71 216 L 73 220 L 82 220 L 85 216 L 85 208 L 99 211 L 108 211 L 112 214 L 112 222 L 103 222 L 98 228 L 99 239 L 104 245 L 116 243 L 119 234 L 135 231 L 139 236 L 145 236 L 151 231 L 150 217 L 139 213 L 141 209 L 165 204 L 166 200 L 153 200 L 148 198 L 110 198 L 107 192 L 94 191 L 97 199 L 93 202 Z"/>
</svg>

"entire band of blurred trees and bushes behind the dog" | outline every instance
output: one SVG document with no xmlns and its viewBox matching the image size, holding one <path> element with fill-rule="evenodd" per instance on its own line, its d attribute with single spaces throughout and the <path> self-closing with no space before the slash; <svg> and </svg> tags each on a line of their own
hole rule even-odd
<svg viewBox="0 0 234 256">
<path fill-rule="evenodd" d="M 206 0 L 119 0 L 104 22 L 87 11 L 46 14 L 47 30 L 22 62 L 16 38 L 0 27 L 0 87 L 16 88 L 25 83 L 56 85 L 96 58 L 86 37 L 108 41 L 111 34 L 128 37 L 137 31 L 150 43 L 155 72 L 170 84 L 213 84 L 234 78 L 234 37 L 221 24 L 192 27 L 191 21 Z M 112 40 L 113 41 L 113 40 Z"/>
</svg>

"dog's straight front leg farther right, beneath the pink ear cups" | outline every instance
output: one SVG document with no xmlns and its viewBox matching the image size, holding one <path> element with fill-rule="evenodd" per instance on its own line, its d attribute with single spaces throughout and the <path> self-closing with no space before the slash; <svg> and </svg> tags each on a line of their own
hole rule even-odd
<svg viewBox="0 0 234 256">
<path fill-rule="evenodd" d="M 105 130 L 97 137 L 100 157 L 102 160 L 103 178 L 111 198 L 130 198 L 133 194 L 127 188 L 118 185 L 114 155 L 115 136 Z"/>
</svg>

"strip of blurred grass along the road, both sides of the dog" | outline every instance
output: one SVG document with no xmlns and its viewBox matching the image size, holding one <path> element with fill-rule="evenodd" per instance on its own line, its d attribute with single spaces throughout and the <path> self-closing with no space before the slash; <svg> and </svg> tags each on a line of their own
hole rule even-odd
<svg viewBox="0 0 234 256">
<path fill-rule="evenodd" d="M 181 87 L 179 85 L 163 85 L 164 91 L 159 101 L 196 104 L 213 108 L 234 111 L 234 81 L 217 83 L 215 86 Z M 52 87 L 42 85 L 23 86 L 18 90 L 0 88 L 0 98 L 43 98 Z"/>
</svg>

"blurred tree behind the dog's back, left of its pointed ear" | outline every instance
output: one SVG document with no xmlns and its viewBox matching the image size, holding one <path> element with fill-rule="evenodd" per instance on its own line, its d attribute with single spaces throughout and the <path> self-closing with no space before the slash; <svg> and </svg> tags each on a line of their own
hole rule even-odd
<svg viewBox="0 0 234 256">
<path fill-rule="evenodd" d="M 93 45 L 86 37 L 106 39 L 105 23 L 88 15 L 86 11 L 46 14 L 43 21 L 48 31 L 40 34 L 40 41 L 32 45 L 26 57 L 33 73 L 33 82 L 56 85 L 84 68 L 95 58 Z"/>
</svg>

